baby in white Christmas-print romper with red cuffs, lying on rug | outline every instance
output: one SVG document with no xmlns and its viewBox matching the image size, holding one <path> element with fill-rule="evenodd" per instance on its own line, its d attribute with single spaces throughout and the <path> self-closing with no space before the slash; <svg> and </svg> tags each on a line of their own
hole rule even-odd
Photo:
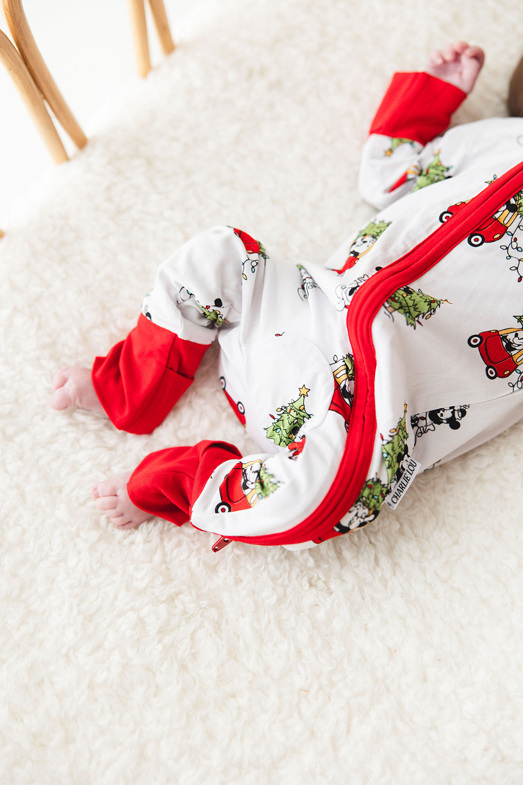
<svg viewBox="0 0 523 785">
<path fill-rule="evenodd" d="M 523 416 L 523 119 L 443 133 L 483 61 L 458 42 L 425 71 L 394 75 L 360 173 L 380 212 L 326 267 L 276 264 L 239 229 L 203 232 L 159 268 L 125 341 L 92 369 L 56 374 L 55 409 L 151 433 L 217 338 L 223 391 L 260 447 L 148 455 L 93 490 L 115 526 L 157 515 L 221 535 L 213 550 L 312 546 L 394 508 L 420 470 Z"/>
</svg>

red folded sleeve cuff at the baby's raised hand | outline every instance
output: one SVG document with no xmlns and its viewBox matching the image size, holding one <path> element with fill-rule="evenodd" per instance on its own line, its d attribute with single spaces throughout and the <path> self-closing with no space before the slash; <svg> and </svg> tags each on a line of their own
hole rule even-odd
<svg viewBox="0 0 523 785">
<path fill-rule="evenodd" d="M 449 127 L 466 97 L 459 87 L 424 72 L 394 74 L 369 133 L 425 145 Z"/>
</svg>

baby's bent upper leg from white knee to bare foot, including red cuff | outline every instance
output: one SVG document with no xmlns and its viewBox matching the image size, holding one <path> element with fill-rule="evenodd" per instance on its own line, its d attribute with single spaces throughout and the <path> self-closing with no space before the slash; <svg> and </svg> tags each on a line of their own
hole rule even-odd
<svg viewBox="0 0 523 785">
<path fill-rule="evenodd" d="M 151 433 L 193 382 L 223 323 L 238 319 L 242 269 L 246 261 L 253 266 L 252 254 L 260 257 L 259 244 L 229 227 L 185 243 L 159 268 L 125 341 L 96 357 L 92 371 L 59 371 L 51 405 L 105 412 L 118 429 Z"/>
</svg>

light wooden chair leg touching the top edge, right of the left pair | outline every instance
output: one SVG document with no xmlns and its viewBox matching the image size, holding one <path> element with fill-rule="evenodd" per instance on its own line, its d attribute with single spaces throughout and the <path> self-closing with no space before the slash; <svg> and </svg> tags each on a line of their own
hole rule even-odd
<svg viewBox="0 0 523 785">
<path fill-rule="evenodd" d="M 35 38 L 27 24 L 27 17 L 24 13 L 21 0 L 2 0 L 5 18 L 9 25 L 13 41 L 16 43 L 18 51 L 25 60 L 35 84 L 40 89 L 43 97 L 53 110 L 54 115 L 60 126 L 69 134 L 74 144 L 82 148 L 87 142 L 87 137 L 82 131 L 71 109 L 67 106 L 62 93 L 56 86 L 56 82 L 49 73 L 44 59 L 36 46 Z"/>
</svg>

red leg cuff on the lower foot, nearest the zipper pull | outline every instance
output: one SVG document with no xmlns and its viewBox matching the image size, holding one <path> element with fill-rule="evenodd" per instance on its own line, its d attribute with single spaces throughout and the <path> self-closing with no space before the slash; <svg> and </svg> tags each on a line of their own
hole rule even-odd
<svg viewBox="0 0 523 785">
<path fill-rule="evenodd" d="M 144 512 L 181 526 L 216 466 L 241 457 L 234 444 L 212 441 L 153 452 L 131 475 L 129 498 Z"/>
</svg>

